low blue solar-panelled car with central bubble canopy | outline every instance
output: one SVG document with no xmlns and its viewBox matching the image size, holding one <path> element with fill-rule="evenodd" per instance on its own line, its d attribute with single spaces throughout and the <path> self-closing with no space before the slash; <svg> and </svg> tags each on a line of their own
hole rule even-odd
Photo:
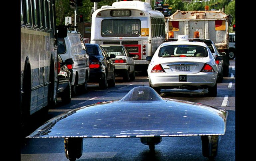
<svg viewBox="0 0 256 161">
<path fill-rule="evenodd" d="M 119 101 L 57 116 L 27 138 L 64 138 L 66 157 L 75 160 L 82 155 L 83 138 L 140 138 L 154 150 L 162 137 L 200 136 L 203 156 L 214 159 L 227 114 L 207 105 L 165 99 L 151 87 L 140 86 Z"/>
</svg>

